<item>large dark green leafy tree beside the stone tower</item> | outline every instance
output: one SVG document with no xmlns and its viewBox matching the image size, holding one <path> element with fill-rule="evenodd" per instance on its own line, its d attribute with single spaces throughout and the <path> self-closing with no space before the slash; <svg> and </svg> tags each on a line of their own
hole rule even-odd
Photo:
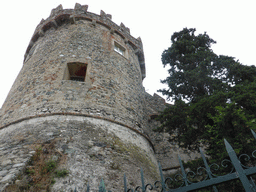
<svg viewBox="0 0 256 192">
<path fill-rule="evenodd" d="M 162 54 L 169 76 L 162 80 L 167 89 L 159 90 L 174 105 L 158 119 L 156 131 L 167 131 L 171 141 L 197 149 L 207 144 L 212 158 L 227 156 L 226 138 L 238 153 L 252 152 L 250 129 L 256 129 L 256 68 L 233 57 L 218 56 L 211 49 L 216 43 L 206 33 L 184 28 L 171 37 L 172 45 Z"/>
</svg>

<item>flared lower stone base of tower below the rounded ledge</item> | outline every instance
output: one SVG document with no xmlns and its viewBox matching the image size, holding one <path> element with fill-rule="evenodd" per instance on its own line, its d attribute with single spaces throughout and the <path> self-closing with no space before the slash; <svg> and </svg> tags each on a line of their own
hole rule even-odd
<svg viewBox="0 0 256 192">
<path fill-rule="evenodd" d="M 140 168 L 148 182 L 159 174 L 154 151 L 143 136 L 101 119 L 64 115 L 33 118 L 0 130 L 0 140 L 0 191 L 11 183 L 28 182 L 22 174 L 26 164 L 38 146 L 54 140 L 49 159 L 58 153 L 65 155 L 61 168 L 69 174 L 55 178 L 52 191 L 75 187 L 85 191 L 88 183 L 96 190 L 104 179 L 109 190 L 120 192 L 124 173 L 130 187 L 139 184 Z"/>
</svg>

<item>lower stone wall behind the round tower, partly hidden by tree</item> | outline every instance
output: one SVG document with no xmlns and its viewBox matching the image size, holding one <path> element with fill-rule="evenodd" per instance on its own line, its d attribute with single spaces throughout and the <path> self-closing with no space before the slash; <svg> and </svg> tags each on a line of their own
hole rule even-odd
<svg viewBox="0 0 256 192">
<path fill-rule="evenodd" d="M 148 116 L 148 134 L 155 148 L 155 155 L 158 162 L 161 163 L 165 175 L 172 174 L 179 170 L 178 155 L 184 162 L 200 158 L 201 155 L 197 151 L 180 148 L 177 143 L 170 143 L 171 137 L 168 133 L 158 133 L 153 130 L 160 126 L 160 122 L 156 121 L 157 115 L 168 107 L 168 103 L 159 95 L 153 96 L 145 94 L 147 116 Z"/>
</svg>

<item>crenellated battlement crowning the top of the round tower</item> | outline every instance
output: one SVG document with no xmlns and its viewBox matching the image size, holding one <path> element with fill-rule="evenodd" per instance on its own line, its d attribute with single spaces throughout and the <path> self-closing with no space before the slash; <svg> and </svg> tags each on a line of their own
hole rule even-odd
<svg viewBox="0 0 256 192">
<path fill-rule="evenodd" d="M 116 33 L 124 39 L 125 43 L 130 44 L 135 53 L 138 55 L 141 72 L 143 78 L 145 77 L 145 59 L 143 53 L 143 46 L 140 37 L 137 39 L 130 35 L 130 29 L 126 27 L 123 23 L 118 26 L 111 19 L 110 14 L 106 14 L 104 11 L 100 12 L 100 15 L 88 12 L 88 5 L 80 5 L 76 3 L 74 9 L 63 9 L 62 5 L 59 5 L 55 9 L 52 9 L 50 16 L 41 22 L 35 29 L 35 32 L 29 42 L 27 47 L 24 61 L 26 60 L 27 55 L 29 54 L 30 49 L 33 47 L 34 43 L 42 36 L 45 32 L 51 28 L 58 29 L 64 23 L 75 24 L 79 20 L 88 20 L 91 21 L 93 25 L 99 24 L 111 31 L 111 33 Z"/>
</svg>

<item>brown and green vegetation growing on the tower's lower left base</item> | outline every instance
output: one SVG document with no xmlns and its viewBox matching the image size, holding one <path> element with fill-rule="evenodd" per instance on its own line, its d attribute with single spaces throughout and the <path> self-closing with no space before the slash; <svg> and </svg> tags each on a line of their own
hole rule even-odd
<svg viewBox="0 0 256 192">
<path fill-rule="evenodd" d="M 7 186 L 6 192 L 50 191 L 56 178 L 68 175 L 67 169 L 60 168 L 65 164 L 66 156 L 56 150 L 55 142 L 52 140 L 36 147 L 24 173 L 18 176 L 14 184 Z"/>
</svg>

